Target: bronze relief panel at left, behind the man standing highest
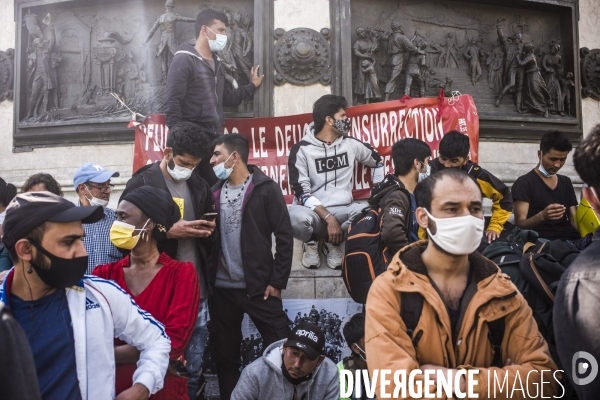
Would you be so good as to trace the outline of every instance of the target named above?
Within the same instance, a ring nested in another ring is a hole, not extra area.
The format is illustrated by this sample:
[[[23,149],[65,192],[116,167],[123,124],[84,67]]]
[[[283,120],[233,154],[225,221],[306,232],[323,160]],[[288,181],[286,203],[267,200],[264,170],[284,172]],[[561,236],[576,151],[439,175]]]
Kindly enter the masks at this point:
[[[249,82],[254,63],[253,1],[79,4],[83,3],[23,8],[18,57],[27,76],[16,88],[19,128],[130,117],[131,112],[111,94],[140,114],[162,112],[173,54],[182,43],[195,43],[196,16],[207,8],[229,17],[228,45],[219,54],[228,88]],[[253,101],[226,111],[251,115]]]

